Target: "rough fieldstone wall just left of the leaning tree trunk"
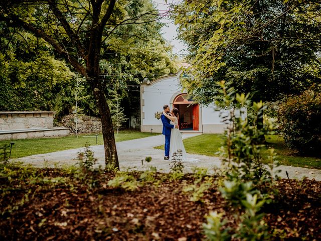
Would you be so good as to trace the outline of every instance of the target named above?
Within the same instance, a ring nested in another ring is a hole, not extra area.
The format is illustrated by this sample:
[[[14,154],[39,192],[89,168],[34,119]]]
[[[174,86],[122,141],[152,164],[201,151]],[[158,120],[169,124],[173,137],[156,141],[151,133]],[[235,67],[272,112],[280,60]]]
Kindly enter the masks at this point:
[[[75,115],[70,114],[62,118],[60,125],[70,128],[71,133],[76,133]],[[102,132],[101,121],[99,117],[78,115],[77,124],[78,133],[100,133]]]

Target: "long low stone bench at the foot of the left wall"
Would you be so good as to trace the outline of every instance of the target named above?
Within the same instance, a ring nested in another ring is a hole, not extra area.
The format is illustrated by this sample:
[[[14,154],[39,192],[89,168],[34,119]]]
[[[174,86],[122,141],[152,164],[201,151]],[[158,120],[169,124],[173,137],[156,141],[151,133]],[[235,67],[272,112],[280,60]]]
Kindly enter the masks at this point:
[[[2,130],[0,131],[0,140],[66,137],[69,135],[69,133],[70,129],[65,127]]]

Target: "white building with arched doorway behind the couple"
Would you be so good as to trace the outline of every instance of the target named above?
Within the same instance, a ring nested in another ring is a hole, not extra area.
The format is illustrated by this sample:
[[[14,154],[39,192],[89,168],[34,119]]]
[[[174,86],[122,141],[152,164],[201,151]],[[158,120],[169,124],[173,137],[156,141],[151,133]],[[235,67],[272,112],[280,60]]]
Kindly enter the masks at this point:
[[[188,99],[182,92],[179,74],[173,74],[140,85],[141,132],[162,133],[161,119],[154,114],[163,111],[163,106],[179,109],[179,126],[182,132],[223,133],[220,111],[214,105],[202,106]],[[152,129],[152,130],[151,130]]]

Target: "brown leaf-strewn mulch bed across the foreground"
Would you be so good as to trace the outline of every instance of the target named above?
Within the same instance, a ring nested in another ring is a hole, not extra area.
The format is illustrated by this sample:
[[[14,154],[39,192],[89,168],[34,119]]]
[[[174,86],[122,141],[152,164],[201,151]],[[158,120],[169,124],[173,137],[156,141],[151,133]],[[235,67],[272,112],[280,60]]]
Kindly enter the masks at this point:
[[[204,216],[211,210],[226,212],[227,225],[237,226],[235,212],[240,210],[215,187],[203,202],[189,200],[182,188],[193,183],[192,175],[170,181],[167,174],[157,174],[161,184],[130,192],[107,185],[113,174],[101,175],[100,186],[89,189],[57,169],[39,173],[70,182],[38,185],[0,179],[1,240],[200,240]],[[276,202],[263,210],[264,220],[277,232],[275,239],[321,240],[321,182],[282,179],[277,188]]]

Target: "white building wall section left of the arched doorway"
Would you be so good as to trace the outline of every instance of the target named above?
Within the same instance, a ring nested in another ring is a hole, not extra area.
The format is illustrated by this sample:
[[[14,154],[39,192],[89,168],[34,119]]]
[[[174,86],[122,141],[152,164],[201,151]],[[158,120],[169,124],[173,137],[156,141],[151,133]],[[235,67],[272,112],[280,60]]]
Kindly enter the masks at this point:
[[[141,125],[162,125],[162,121],[156,119],[154,113],[163,111],[165,104],[170,105],[172,96],[182,91],[179,86],[178,76],[162,78],[161,81],[144,85],[143,88],[142,99],[144,100],[144,105],[142,106],[142,112],[144,112],[144,118],[141,120]]]

